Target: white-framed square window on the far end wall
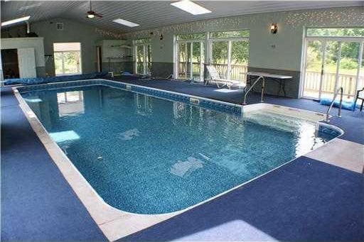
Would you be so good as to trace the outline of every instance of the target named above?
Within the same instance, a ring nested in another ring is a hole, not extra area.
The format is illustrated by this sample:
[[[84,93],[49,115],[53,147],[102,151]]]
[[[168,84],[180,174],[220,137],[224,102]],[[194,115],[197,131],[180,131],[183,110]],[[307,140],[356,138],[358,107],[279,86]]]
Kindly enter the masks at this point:
[[[81,43],[54,43],[55,75],[81,74]]]

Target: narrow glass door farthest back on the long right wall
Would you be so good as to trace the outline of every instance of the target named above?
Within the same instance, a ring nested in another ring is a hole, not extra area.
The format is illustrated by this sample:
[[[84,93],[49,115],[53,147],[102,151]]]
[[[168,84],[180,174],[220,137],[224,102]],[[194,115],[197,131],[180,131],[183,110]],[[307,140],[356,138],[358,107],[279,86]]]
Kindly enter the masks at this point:
[[[147,75],[151,73],[151,40],[134,40],[134,72]]]

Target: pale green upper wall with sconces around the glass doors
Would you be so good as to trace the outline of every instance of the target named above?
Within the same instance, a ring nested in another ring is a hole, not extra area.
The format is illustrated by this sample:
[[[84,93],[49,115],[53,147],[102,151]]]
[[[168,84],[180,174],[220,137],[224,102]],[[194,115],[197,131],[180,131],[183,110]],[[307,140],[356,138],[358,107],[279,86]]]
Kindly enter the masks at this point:
[[[271,23],[278,24],[278,33],[275,35],[269,31]],[[250,29],[250,67],[300,71],[304,28],[325,26],[363,27],[364,6],[215,18],[127,33],[124,37],[151,38],[152,60],[173,62],[173,35]],[[150,35],[150,32],[154,35]],[[160,34],[164,35],[163,40],[159,40]]]

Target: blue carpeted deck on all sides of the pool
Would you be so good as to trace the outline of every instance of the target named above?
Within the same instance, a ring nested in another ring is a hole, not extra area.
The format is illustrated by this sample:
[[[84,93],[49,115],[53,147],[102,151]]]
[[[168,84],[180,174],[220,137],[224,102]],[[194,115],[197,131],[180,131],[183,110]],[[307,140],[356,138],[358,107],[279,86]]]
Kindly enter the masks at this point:
[[[241,90],[157,80],[132,84],[241,103]],[[252,94],[248,103],[256,103]],[[305,99],[272,104],[325,112]],[[332,114],[336,114],[336,109]],[[346,133],[249,184],[123,241],[364,241],[364,112],[331,123]],[[354,150],[354,151],[353,151]],[[318,151],[318,150],[316,150]],[[355,153],[356,152],[356,153]],[[1,89],[1,241],[105,241],[29,125],[9,87]],[[123,228],[120,228],[122,230]]]

